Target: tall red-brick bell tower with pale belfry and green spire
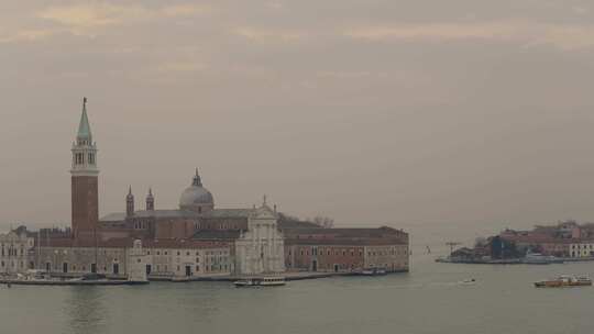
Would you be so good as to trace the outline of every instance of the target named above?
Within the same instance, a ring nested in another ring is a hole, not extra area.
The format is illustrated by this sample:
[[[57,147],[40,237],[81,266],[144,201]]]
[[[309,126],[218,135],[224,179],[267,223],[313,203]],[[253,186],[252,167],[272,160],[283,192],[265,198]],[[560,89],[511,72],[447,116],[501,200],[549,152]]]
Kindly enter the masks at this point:
[[[82,115],[76,142],[73,143],[72,204],[73,237],[95,240],[99,221],[97,144],[87,116],[87,98],[82,99]]]

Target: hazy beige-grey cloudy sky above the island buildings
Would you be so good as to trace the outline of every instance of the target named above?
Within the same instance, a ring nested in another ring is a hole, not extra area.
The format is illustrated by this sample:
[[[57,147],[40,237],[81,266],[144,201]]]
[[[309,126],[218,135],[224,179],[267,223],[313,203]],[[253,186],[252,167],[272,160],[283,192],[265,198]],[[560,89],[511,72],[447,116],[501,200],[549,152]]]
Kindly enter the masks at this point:
[[[0,224],[69,224],[84,96],[101,214],[594,221],[593,81],[592,1],[1,1]]]

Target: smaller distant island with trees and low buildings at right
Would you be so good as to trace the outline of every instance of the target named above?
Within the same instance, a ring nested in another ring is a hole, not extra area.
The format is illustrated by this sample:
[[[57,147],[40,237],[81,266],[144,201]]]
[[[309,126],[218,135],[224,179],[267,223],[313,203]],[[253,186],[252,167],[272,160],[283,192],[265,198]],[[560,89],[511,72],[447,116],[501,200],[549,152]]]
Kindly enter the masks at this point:
[[[479,238],[471,247],[452,249],[444,263],[466,264],[550,264],[594,260],[594,223],[575,221],[537,225],[530,231],[506,229]]]

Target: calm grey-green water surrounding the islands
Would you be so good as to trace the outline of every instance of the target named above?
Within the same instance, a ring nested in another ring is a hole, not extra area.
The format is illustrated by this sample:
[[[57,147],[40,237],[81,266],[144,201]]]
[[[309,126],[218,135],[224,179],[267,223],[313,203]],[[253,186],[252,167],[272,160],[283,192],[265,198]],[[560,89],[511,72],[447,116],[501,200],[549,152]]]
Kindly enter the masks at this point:
[[[436,254],[422,255],[424,248],[416,245],[410,274],[295,281],[284,288],[235,289],[226,282],[0,287],[0,333],[592,331],[594,288],[536,289],[531,282],[564,272],[594,276],[594,263],[436,264]],[[458,283],[470,277],[479,282]]]

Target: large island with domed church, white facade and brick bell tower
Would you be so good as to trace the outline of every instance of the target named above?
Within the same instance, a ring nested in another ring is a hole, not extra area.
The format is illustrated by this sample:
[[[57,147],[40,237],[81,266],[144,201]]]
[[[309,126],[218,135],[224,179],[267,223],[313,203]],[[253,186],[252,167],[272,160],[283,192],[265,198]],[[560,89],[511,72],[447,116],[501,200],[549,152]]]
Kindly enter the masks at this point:
[[[85,99],[72,146],[70,226],[19,226],[0,234],[0,275],[41,270],[56,277],[201,280],[409,269],[408,234],[402,230],[320,226],[277,212],[265,197],[258,207],[220,209],[198,170],[178,208],[157,209],[148,189],[139,210],[130,188],[125,211],[100,218],[97,151]]]

